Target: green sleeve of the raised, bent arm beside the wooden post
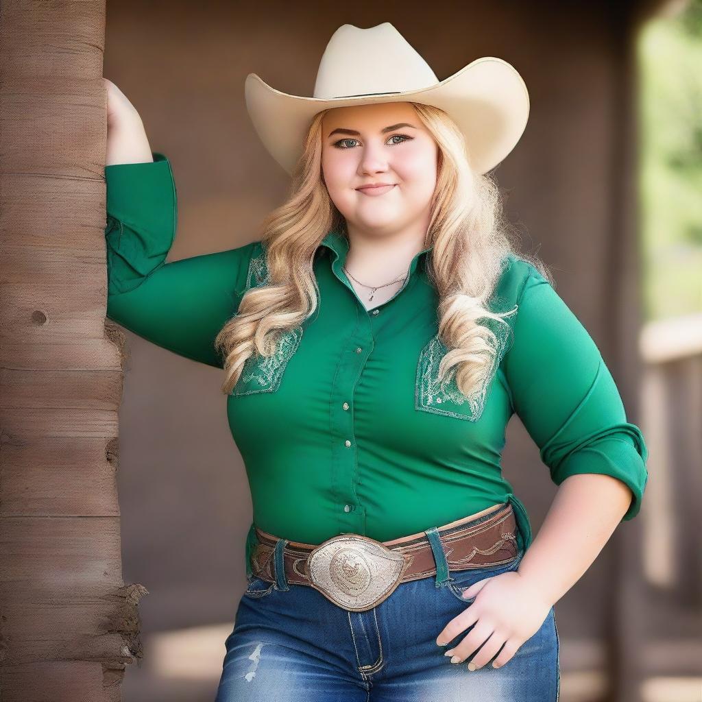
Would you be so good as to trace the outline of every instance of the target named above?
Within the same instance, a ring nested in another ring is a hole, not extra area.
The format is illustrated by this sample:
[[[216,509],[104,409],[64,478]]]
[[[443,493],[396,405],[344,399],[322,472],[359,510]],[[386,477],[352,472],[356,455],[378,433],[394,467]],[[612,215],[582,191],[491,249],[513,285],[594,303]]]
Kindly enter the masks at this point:
[[[166,263],[178,199],[171,164],[105,166],[107,317],[161,347],[218,368],[214,338],[237,312],[253,244]]]

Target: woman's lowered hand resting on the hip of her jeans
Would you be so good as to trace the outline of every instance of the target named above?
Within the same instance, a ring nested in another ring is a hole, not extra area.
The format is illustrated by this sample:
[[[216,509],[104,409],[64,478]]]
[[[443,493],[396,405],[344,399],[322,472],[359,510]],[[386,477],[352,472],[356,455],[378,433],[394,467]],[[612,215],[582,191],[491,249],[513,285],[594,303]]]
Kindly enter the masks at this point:
[[[505,665],[517,649],[541,628],[552,607],[552,603],[543,600],[519,571],[483,578],[466,588],[463,597],[475,597],[475,601],[446,624],[437,637],[437,644],[445,646],[475,624],[458,646],[446,651],[446,656],[458,656],[457,660],[452,659],[453,662],[463,663],[465,658],[480,648],[468,664],[470,670],[482,668],[503,644],[504,648],[492,665],[494,668]]]

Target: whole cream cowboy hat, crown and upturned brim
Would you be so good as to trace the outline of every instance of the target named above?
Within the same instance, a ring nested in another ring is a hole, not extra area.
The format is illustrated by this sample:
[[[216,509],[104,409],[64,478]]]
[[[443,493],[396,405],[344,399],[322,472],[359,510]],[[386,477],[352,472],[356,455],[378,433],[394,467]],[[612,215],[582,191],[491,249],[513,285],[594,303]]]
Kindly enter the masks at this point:
[[[444,110],[465,137],[468,158],[486,173],[515,147],[527,126],[529,93],[514,67],[485,56],[439,81],[390,22],[342,25],[319,62],[314,96],[288,95],[258,75],[246,77],[246,109],[272,157],[290,174],[312,117],[331,107],[422,102]]]

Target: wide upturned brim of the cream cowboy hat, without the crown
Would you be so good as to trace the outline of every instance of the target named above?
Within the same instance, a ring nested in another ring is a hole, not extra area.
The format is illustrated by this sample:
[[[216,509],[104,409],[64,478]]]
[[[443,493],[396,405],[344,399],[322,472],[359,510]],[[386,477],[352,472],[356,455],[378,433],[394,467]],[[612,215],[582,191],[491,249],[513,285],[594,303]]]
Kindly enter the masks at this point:
[[[444,110],[464,135],[470,165],[478,173],[497,166],[514,149],[527,127],[529,93],[507,61],[485,56],[429,88],[353,98],[306,98],[289,95],[250,73],[244,85],[246,110],[261,142],[291,174],[303,139],[317,112],[378,102],[421,102]]]

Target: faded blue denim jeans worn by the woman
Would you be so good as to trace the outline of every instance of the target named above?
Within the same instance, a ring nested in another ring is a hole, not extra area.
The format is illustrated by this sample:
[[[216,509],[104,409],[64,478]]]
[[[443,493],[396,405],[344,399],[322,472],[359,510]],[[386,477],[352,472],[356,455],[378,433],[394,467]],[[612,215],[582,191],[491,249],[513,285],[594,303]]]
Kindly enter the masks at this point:
[[[430,541],[435,561],[443,560],[437,575],[400,583],[362,612],[338,607],[308,585],[289,584],[284,574],[277,573],[275,583],[249,576],[225,640],[216,702],[557,701],[553,608],[501,668],[491,665],[497,656],[473,671],[468,663],[475,654],[462,663],[444,656],[472,627],[446,646],[436,643],[444,626],[470,607],[461,592],[482,578],[516,571],[524,548],[508,564],[447,574],[435,534]]]

